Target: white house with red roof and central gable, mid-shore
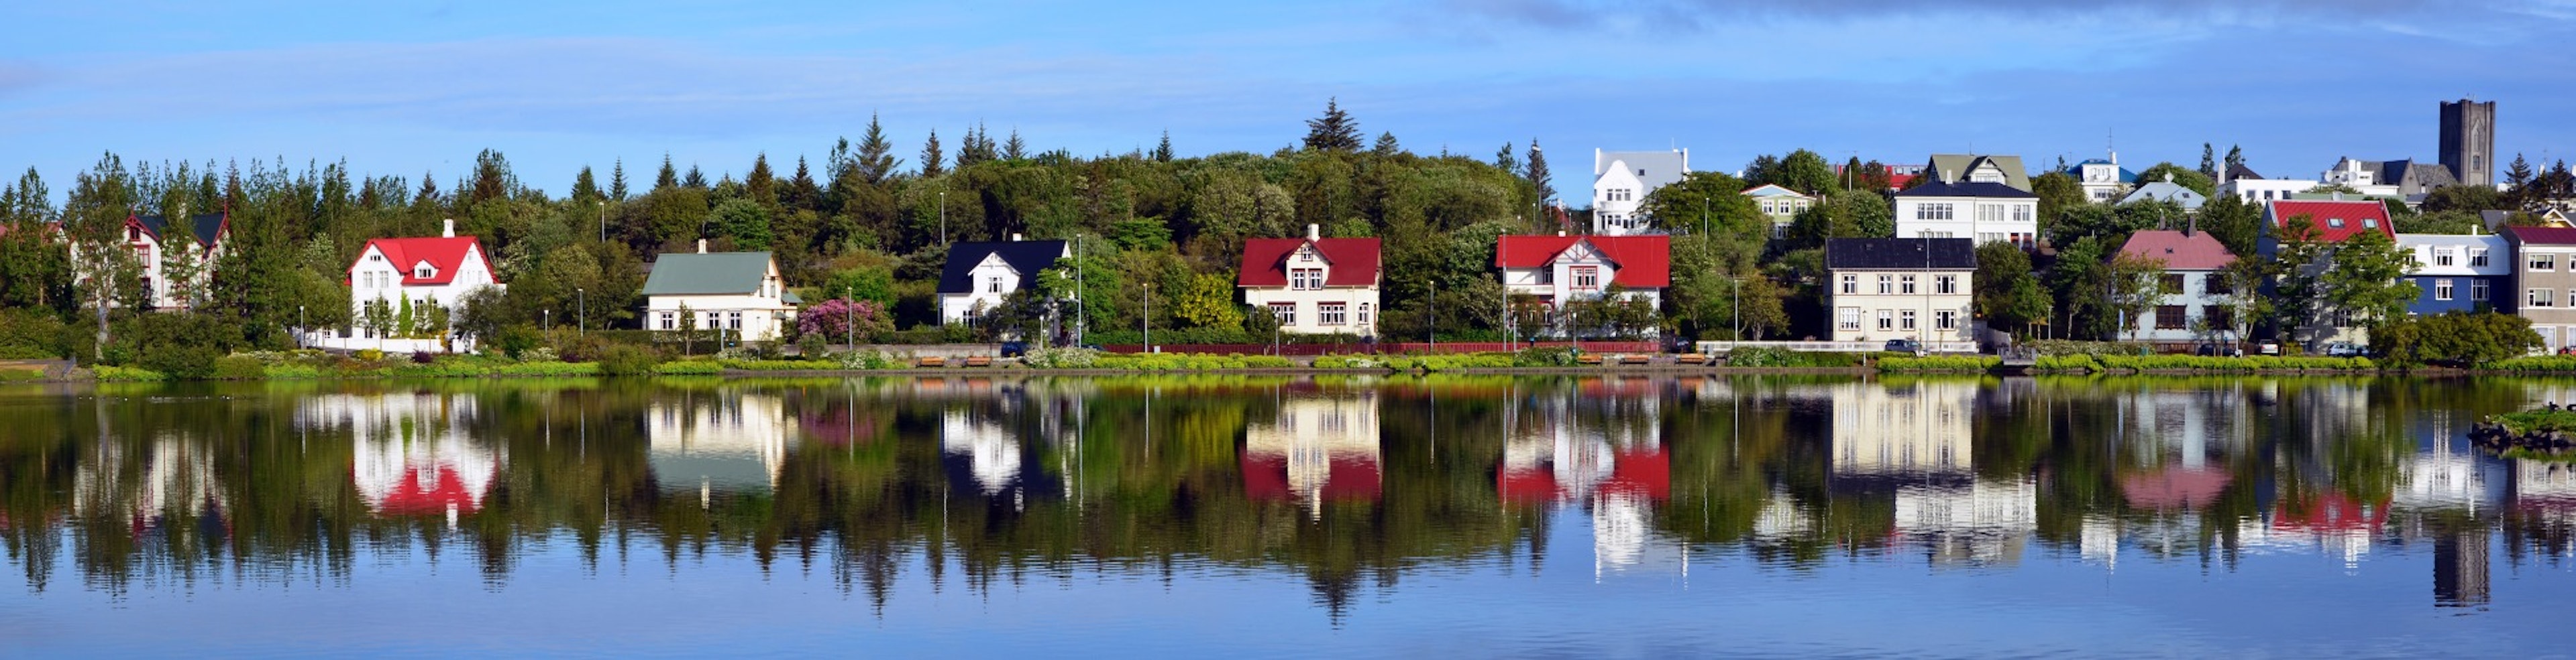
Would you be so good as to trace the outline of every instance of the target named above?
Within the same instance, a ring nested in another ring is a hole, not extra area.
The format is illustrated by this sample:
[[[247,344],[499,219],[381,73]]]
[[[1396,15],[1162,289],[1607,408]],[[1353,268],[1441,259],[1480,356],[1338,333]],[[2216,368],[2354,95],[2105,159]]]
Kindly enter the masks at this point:
[[[1247,239],[1234,285],[1244,303],[1270,311],[1285,334],[1378,334],[1378,288],[1386,270],[1378,239]]]

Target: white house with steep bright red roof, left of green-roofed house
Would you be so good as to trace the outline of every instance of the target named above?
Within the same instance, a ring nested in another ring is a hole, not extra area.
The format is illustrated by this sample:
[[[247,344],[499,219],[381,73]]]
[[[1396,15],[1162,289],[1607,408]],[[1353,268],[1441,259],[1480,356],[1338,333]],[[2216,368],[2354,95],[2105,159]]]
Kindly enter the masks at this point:
[[[456,221],[446,221],[438,236],[422,239],[374,239],[358,249],[358,259],[348,265],[348,303],[350,318],[366,318],[368,306],[381,306],[386,313],[399,313],[412,308],[425,313],[430,306],[448,308],[456,306],[479,288],[500,288],[492,275],[492,259],[484,254],[482,241],[474,236],[456,236]],[[394,331],[402,336],[404,331]],[[348,347],[379,347],[386,336],[376,336],[366,321],[358,321],[353,336],[361,342],[325,342]],[[392,352],[417,352],[433,349],[435,339],[412,339],[410,344],[381,349]]]

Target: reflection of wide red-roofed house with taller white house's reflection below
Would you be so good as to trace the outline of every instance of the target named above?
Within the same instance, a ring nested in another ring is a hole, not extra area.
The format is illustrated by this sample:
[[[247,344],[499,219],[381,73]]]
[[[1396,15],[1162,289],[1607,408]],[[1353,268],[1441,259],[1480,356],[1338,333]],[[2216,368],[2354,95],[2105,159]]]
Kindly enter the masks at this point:
[[[1685,550],[1654,532],[1672,498],[1662,393],[1646,378],[1530,385],[1504,426],[1494,488],[1517,503],[1582,503],[1592,519],[1592,573],[1682,573]]]

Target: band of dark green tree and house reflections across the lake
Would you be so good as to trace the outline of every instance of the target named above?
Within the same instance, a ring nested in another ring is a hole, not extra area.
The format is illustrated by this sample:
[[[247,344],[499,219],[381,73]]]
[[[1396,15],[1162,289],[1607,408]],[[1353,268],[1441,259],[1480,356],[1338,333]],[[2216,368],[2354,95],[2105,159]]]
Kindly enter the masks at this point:
[[[1419,570],[1595,578],[1832,557],[2362,562],[2429,544],[2434,601],[2558,565],[2576,475],[2476,455],[2553,380],[853,378],[95,385],[0,393],[0,537],[129,593],[343,586],[464,547],[670,570],[752,560],[878,609],[1190,565],[1301,575],[1340,616]],[[1577,550],[1582,552],[1582,550]]]

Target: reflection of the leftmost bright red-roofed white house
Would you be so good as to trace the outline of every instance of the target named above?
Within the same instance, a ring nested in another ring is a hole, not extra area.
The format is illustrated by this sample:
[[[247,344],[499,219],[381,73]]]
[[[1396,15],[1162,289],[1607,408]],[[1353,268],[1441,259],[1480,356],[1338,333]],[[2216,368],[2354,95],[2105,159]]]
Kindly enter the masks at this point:
[[[474,395],[317,395],[296,416],[304,431],[350,434],[350,480],[376,516],[446,516],[456,526],[482,511],[505,460],[466,437]]]

